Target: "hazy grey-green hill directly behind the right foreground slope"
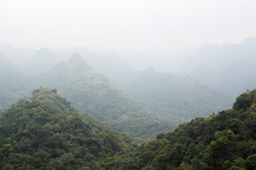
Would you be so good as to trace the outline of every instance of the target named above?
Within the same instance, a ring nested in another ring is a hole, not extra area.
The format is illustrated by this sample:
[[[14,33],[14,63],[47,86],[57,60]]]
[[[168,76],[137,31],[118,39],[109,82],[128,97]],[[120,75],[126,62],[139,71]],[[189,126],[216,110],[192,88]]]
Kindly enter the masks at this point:
[[[154,67],[145,69],[125,91],[149,113],[175,123],[230,108],[234,101],[232,96],[199,84],[191,77],[181,79],[156,72]]]

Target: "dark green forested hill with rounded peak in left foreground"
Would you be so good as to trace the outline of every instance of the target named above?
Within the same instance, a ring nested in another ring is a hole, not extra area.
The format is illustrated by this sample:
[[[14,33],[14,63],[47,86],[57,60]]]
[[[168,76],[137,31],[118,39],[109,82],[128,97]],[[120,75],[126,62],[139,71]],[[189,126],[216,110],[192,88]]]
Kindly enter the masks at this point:
[[[0,146],[0,169],[108,169],[136,145],[41,88],[1,113]]]

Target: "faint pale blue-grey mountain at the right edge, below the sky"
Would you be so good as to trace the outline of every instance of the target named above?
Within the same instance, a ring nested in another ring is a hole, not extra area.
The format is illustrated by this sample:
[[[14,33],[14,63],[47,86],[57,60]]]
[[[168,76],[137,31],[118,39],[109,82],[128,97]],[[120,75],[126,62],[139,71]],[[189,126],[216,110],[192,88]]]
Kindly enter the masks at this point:
[[[189,57],[179,69],[180,75],[191,75],[203,84],[230,94],[255,89],[256,38],[240,44],[204,45],[198,55]]]

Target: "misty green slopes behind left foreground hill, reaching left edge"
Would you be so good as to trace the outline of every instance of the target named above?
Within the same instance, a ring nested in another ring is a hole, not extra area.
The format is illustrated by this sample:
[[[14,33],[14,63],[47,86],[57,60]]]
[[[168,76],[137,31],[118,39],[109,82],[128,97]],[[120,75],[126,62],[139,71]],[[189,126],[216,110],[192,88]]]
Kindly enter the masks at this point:
[[[95,72],[78,54],[37,77],[24,76],[17,69],[10,69],[11,65],[1,64],[0,57],[0,111],[28,96],[31,89],[45,86],[53,89],[53,93],[58,89],[75,108],[112,130],[149,138],[176,126],[169,120],[146,113],[142,106],[110,84],[103,74]]]

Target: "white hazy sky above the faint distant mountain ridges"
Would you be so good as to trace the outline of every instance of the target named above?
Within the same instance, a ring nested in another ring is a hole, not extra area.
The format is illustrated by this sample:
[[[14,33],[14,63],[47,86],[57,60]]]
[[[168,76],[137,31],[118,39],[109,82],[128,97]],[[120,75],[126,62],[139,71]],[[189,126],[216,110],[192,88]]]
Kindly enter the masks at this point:
[[[255,0],[0,0],[0,44],[168,54],[256,35]]]

